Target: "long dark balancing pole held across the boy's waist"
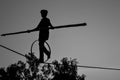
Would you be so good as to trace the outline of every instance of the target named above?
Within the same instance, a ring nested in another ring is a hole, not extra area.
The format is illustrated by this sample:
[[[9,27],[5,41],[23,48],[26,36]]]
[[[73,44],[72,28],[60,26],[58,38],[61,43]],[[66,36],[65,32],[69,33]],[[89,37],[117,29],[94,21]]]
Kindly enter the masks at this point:
[[[70,25],[55,26],[54,29],[80,27],[80,26],[86,26],[86,25],[87,25],[86,23],[70,24]],[[53,29],[53,28],[49,28],[49,29]],[[6,34],[2,34],[1,36],[15,35],[15,34],[21,34],[21,33],[30,33],[34,31],[39,31],[39,30],[26,30],[26,31],[20,31],[20,32],[6,33]]]

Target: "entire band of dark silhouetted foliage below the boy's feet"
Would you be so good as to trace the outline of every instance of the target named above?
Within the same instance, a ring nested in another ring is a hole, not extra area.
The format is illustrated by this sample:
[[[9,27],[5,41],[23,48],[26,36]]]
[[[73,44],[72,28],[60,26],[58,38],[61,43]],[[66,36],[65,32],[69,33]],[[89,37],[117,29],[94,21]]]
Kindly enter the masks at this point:
[[[0,80],[84,80],[78,75],[76,59],[63,58],[60,62],[39,63],[33,54],[26,55],[26,62],[18,61],[7,68],[0,68]]]

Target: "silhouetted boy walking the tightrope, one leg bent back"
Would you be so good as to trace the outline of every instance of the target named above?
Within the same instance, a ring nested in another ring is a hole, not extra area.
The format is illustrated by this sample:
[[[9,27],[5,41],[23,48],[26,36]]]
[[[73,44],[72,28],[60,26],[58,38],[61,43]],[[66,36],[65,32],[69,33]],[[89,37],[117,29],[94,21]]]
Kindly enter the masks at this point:
[[[53,26],[47,18],[48,11],[47,10],[41,10],[41,21],[38,24],[38,26],[34,30],[39,30],[39,51],[40,51],[40,59],[39,62],[43,63],[44,62],[44,53],[47,55],[47,59],[50,58],[50,52],[45,48],[44,43],[46,40],[49,38],[49,28],[53,29]]]

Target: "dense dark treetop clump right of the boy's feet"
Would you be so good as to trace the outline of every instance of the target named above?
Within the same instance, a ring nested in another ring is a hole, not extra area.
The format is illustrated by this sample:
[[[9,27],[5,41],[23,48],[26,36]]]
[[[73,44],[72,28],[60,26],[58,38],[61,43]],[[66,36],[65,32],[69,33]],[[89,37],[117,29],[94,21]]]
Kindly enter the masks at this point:
[[[54,78],[52,80],[84,80],[85,75],[78,75],[76,59],[63,58],[61,63],[54,61]]]

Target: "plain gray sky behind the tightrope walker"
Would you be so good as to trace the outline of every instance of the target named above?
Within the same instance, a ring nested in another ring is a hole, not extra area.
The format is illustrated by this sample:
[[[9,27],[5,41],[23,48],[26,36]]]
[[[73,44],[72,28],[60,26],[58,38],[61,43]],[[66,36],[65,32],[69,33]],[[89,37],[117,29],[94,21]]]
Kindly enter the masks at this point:
[[[0,0],[0,34],[33,29],[40,10],[47,9],[53,26],[86,22],[86,27],[50,31],[52,60],[77,58],[80,65],[120,68],[119,0]],[[26,54],[38,32],[0,37],[0,44]],[[38,55],[38,45],[34,52]],[[0,66],[23,57],[0,48]],[[119,80],[120,71],[80,68],[86,80]]]

